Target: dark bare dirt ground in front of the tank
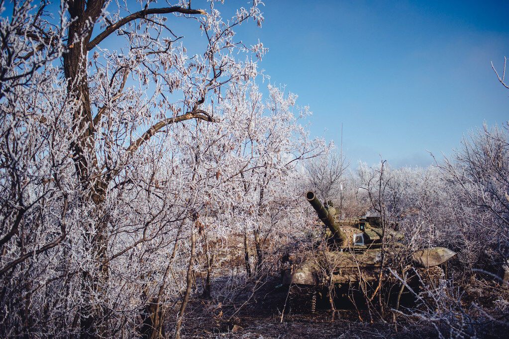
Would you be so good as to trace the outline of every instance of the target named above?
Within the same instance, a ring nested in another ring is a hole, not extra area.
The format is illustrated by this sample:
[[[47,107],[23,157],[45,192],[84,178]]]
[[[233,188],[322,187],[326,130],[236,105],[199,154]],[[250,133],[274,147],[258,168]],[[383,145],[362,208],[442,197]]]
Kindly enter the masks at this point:
[[[403,328],[401,324],[369,321],[361,311],[360,321],[355,310],[318,310],[307,314],[285,314],[274,311],[286,293],[270,291],[270,284],[253,298],[240,296],[236,305],[214,304],[209,300],[194,300],[188,306],[185,327],[186,338],[433,338],[434,329]],[[244,303],[248,300],[247,303]],[[242,302],[244,301],[244,302]],[[243,305],[240,307],[240,305]],[[236,311],[237,310],[237,311]],[[366,321],[367,319],[367,321]]]

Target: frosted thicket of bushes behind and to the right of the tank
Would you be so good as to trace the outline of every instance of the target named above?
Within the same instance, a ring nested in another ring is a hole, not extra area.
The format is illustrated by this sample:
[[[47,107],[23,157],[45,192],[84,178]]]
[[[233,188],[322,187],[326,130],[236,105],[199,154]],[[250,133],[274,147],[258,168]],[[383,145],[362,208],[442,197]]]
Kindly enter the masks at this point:
[[[428,168],[361,164],[346,176],[347,217],[379,215],[405,234],[407,253],[458,253],[425,307],[399,311],[441,337],[501,335],[509,327],[509,125],[475,130],[453,156]],[[339,201],[338,192],[332,201]],[[337,204],[335,204],[337,206]],[[336,207],[337,208],[337,207]],[[391,272],[403,281],[398,263]],[[422,294],[421,294],[422,296]]]

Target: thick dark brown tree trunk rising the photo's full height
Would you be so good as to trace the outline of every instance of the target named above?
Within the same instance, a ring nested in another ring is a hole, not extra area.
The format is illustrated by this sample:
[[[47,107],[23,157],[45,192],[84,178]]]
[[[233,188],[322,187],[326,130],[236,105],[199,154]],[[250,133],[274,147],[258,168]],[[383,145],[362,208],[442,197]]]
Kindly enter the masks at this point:
[[[89,78],[87,72],[87,52],[94,24],[101,14],[103,0],[75,0],[69,3],[71,18],[68,34],[68,50],[63,55],[64,74],[68,93],[76,99],[77,107],[73,113],[72,129],[76,136],[70,147],[76,174],[81,182],[83,206],[94,204],[94,221],[82,227],[86,231],[86,252],[94,258],[94,265],[81,274],[81,290],[84,304],[80,309],[80,336],[82,338],[103,336],[105,319],[101,298],[102,288],[108,279],[108,269],[104,265],[107,249],[107,218],[104,218],[103,203],[106,198],[107,179],[93,179],[97,172],[94,126],[90,100]],[[75,37],[78,37],[74,41]]]

